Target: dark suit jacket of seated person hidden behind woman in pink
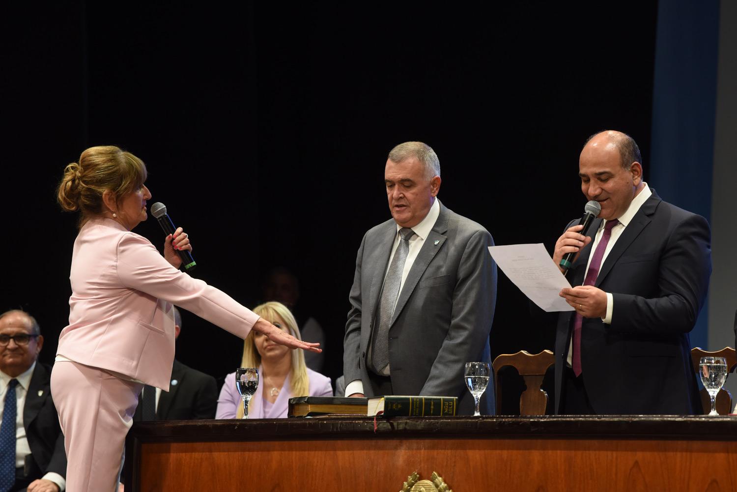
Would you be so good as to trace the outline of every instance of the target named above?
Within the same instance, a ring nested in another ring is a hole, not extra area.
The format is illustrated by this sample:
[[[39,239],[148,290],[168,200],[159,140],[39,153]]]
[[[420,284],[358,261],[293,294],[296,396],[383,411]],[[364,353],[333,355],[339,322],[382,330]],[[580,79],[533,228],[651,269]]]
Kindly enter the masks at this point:
[[[169,391],[158,397],[156,420],[212,419],[216,406],[215,378],[174,359]],[[136,408],[133,420],[141,420],[141,407]]]

